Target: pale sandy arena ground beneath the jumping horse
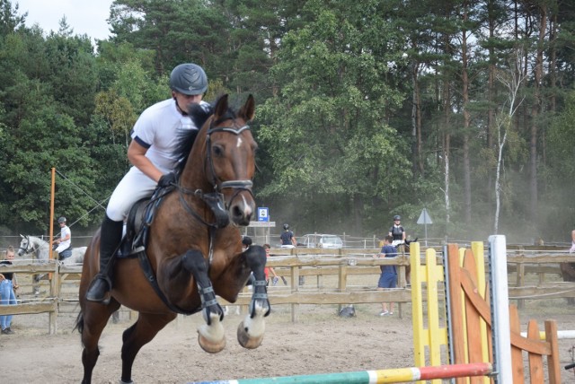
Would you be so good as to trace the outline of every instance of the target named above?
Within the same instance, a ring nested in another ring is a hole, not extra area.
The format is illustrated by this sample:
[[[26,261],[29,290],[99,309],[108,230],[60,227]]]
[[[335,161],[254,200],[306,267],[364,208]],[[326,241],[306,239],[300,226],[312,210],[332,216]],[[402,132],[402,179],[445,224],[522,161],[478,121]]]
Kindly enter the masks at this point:
[[[542,301],[532,301],[541,304]],[[529,304],[521,313],[537,319],[556,319],[560,330],[575,329],[575,308],[564,301],[547,301],[543,310]],[[559,313],[550,313],[559,308]],[[357,317],[340,318],[337,306],[300,306],[297,323],[291,322],[288,305],[274,307],[260,348],[245,350],[235,338],[241,316],[230,313],[225,321],[226,349],[203,352],[197,341],[199,314],[179,317],[164,328],[137,355],[132,380],[136,383],[185,383],[194,380],[226,380],[366,371],[413,366],[410,305],[405,317],[377,316],[377,304],[356,307]],[[529,313],[527,313],[529,312]],[[60,314],[57,334],[48,335],[48,314],[21,315],[13,319],[12,336],[0,335],[0,371],[6,383],[77,383],[82,380],[80,336],[73,332],[75,314]],[[111,321],[101,338],[102,354],[96,364],[94,383],[117,383],[120,378],[121,333],[128,327],[128,313]],[[562,366],[571,362],[575,340],[560,340]],[[562,371],[563,382],[575,382],[572,371]]]

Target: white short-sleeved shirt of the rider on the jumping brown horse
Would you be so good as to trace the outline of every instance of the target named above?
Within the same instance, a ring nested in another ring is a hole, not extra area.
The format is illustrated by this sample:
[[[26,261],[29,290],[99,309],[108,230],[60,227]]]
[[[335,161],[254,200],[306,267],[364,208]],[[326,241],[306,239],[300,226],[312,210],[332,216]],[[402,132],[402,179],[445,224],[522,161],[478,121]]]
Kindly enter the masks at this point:
[[[208,107],[206,101],[200,105]],[[164,171],[172,171],[176,161],[173,150],[178,143],[181,130],[198,129],[191,118],[182,116],[173,99],[155,103],[144,110],[132,129],[132,139],[147,149],[146,157]]]

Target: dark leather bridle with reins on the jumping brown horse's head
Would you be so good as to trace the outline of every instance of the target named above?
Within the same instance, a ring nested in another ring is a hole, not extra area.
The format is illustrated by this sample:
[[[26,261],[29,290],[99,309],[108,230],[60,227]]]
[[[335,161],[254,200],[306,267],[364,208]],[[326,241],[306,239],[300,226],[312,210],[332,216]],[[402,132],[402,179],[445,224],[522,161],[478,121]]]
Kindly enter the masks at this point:
[[[229,209],[230,205],[234,202],[236,196],[238,196],[242,191],[248,191],[250,195],[253,197],[252,192],[252,180],[226,180],[222,181],[217,177],[216,170],[214,169],[214,161],[212,159],[212,141],[211,135],[217,132],[226,132],[232,135],[241,135],[243,131],[249,130],[250,126],[244,125],[243,127],[236,127],[235,124],[233,127],[213,127],[213,121],[210,122],[208,133],[206,134],[206,163],[204,167],[207,167],[209,172],[210,183],[214,192],[205,193],[201,189],[190,190],[187,188],[183,188],[180,185],[180,181],[178,181],[178,191],[180,192],[180,201],[181,205],[184,206],[186,211],[194,216],[200,223],[212,227],[214,229],[224,228],[229,224],[229,215],[227,214],[227,210]],[[234,190],[234,194],[229,199],[228,204],[226,204],[224,194],[222,191],[224,189],[231,188]],[[206,203],[209,208],[214,213],[216,220],[215,223],[208,223],[206,222],[198,213],[196,213],[190,205],[186,202],[184,195],[191,195],[199,197],[204,203]]]

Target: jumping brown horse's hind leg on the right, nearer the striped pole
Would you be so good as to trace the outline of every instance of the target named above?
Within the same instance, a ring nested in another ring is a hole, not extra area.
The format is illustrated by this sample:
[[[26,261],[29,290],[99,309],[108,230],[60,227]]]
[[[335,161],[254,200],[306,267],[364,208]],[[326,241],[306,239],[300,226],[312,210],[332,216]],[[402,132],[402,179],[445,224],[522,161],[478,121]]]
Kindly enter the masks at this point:
[[[163,315],[139,314],[132,327],[124,331],[122,335],[122,383],[132,382],[132,365],[136,355],[142,346],[149,343],[157,333],[170,321],[176,318],[176,314],[169,312]]]

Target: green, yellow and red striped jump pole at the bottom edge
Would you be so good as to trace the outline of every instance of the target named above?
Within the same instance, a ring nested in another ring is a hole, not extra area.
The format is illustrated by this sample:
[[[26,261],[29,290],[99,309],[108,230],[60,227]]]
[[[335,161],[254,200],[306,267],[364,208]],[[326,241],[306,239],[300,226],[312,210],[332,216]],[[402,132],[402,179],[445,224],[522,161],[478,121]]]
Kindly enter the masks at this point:
[[[491,374],[489,362],[469,364],[438,365],[435,367],[398,368],[380,371],[357,371],[342,373],[323,373],[316,375],[278,376],[260,379],[193,381],[189,384],[383,384],[403,383],[415,380],[455,379]]]

